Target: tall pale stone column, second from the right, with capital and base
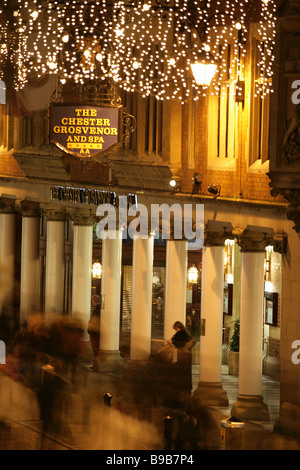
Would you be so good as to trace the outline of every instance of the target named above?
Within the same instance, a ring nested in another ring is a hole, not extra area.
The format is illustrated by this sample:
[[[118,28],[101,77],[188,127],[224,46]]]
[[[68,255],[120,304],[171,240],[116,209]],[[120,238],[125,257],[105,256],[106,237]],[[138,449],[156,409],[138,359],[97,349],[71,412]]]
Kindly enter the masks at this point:
[[[225,238],[206,232],[202,252],[200,373],[193,398],[207,406],[228,406],[221,380]]]

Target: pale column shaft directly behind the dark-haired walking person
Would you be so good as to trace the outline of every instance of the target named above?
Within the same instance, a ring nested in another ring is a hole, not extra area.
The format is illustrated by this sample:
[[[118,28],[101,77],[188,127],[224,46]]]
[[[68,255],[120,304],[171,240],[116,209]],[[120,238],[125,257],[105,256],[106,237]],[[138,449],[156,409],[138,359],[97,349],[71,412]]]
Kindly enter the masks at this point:
[[[175,334],[176,321],[186,323],[188,242],[167,240],[164,338]]]

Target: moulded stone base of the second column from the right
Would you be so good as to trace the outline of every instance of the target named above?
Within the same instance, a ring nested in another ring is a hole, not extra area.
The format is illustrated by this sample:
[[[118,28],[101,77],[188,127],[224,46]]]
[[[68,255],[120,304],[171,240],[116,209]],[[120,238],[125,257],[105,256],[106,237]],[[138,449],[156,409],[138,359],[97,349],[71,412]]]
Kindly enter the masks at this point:
[[[221,382],[199,382],[193,393],[193,401],[204,406],[228,406],[227,393]]]

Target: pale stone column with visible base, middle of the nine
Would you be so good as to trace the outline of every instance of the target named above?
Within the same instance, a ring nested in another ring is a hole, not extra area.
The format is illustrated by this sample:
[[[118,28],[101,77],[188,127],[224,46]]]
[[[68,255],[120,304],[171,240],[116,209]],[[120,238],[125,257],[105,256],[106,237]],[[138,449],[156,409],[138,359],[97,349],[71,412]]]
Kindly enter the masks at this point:
[[[102,241],[101,318],[99,370],[117,372],[123,368],[120,355],[120,306],[122,231],[110,233]]]

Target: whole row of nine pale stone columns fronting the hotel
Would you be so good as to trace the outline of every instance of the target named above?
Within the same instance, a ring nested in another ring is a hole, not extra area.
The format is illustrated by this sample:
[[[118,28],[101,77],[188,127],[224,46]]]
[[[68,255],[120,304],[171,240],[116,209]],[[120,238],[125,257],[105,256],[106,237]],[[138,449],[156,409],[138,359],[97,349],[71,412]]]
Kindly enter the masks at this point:
[[[13,279],[14,201],[0,198],[0,266],[6,263]],[[45,316],[63,312],[64,220],[73,220],[72,315],[84,324],[90,317],[91,266],[94,217],[89,210],[43,208],[47,216]],[[39,219],[38,205],[23,201],[20,320],[38,310]],[[233,237],[233,235],[232,235]],[[227,406],[222,387],[222,326],[224,242],[228,233],[206,234],[202,253],[202,299],[199,384],[194,391],[201,404]],[[239,395],[233,406],[243,419],[267,420],[262,392],[262,341],[264,298],[264,250],[270,244],[265,233],[244,231],[236,237],[242,252]],[[254,241],[253,241],[254,240]],[[133,240],[132,360],[147,360],[151,353],[151,305],[153,238]],[[187,287],[187,242],[167,240],[164,337],[174,334],[175,321],[185,322]],[[122,367],[119,353],[122,233],[102,241],[102,290],[100,370]]]

